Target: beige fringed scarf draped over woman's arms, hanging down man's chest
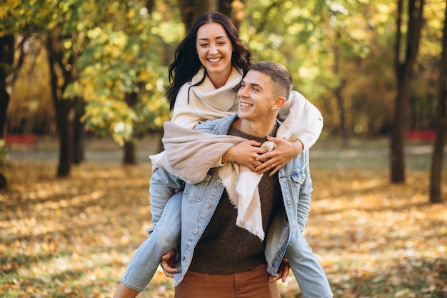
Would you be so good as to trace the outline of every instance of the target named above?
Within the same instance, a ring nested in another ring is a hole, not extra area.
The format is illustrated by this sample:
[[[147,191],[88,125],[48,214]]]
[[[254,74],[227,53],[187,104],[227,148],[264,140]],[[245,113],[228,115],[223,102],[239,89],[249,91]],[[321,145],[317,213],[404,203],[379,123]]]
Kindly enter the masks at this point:
[[[292,91],[287,105],[288,116],[279,126],[276,137],[294,141],[310,128],[309,114],[312,106],[296,91]],[[238,136],[207,134],[165,122],[163,141],[169,154],[161,152],[151,155],[152,169],[154,171],[157,167],[161,167],[189,184],[196,184],[205,179],[211,167],[219,164],[222,155],[231,146],[245,140]],[[218,174],[226,187],[231,203],[238,209],[236,219],[238,227],[247,229],[263,240],[261,202],[258,193],[258,183],[262,174],[251,172],[247,167],[233,162],[219,167]]]

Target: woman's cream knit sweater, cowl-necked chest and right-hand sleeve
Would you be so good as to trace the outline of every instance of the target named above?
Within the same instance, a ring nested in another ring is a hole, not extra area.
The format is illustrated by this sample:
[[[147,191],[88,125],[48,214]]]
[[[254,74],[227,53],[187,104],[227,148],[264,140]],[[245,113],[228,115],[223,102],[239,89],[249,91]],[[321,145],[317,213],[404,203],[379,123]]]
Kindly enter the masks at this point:
[[[194,129],[199,121],[230,116],[238,111],[237,92],[234,88],[242,79],[240,69],[233,67],[225,86],[219,89],[216,89],[208,76],[199,86],[191,87],[203,77],[204,68],[199,69],[193,79],[181,87],[176,97],[172,123]],[[291,109],[295,110],[292,113],[293,118],[287,117]],[[288,141],[299,139],[304,148],[315,144],[323,129],[323,116],[320,111],[297,91],[291,92],[279,116],[285,120],[278,130],[278,137]]]

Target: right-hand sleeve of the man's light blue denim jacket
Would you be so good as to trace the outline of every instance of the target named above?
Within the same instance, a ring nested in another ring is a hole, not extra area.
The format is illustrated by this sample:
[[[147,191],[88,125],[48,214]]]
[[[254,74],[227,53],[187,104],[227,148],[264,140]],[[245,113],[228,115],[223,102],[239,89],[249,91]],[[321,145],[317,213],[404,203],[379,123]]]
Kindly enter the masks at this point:
[[[311,193],[313,191],[308,150],[304,151],[302,154],[306,154],[306,167],[303,169],[305,178],[300,187],[298,204],[296,207],[296,222],[301,232],[303,232],[304,227],[306,227],[309,212],[311,210]]]

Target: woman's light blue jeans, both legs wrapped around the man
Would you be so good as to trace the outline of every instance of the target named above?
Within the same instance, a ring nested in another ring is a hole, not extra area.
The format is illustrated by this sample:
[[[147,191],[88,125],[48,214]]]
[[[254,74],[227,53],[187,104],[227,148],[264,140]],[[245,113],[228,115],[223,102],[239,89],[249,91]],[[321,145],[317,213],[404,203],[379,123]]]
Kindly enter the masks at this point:
[[[154,277],[161,257],[179,246],[182,196],[183,192],[178,192],[168,200],[153,232],[136,250],[121,278],[121,282],[126,287],[139,292],[143,291]],[[332,297],[326,274],[313,255],[306,238],[298,229],[295,229],[295,233],[288,244],[285,257],[288,258],[303,296],[305,298]]]

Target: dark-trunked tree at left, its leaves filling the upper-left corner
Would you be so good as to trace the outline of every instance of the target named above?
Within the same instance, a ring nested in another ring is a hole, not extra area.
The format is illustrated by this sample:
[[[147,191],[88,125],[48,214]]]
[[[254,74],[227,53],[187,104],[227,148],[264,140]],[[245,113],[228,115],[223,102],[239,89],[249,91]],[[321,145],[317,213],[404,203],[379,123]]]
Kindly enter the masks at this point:
[[[90,11],[98,11],[100,7],[97,1],[8,1],[2,5],[0,15],[4,10],[8,18],[6,20],[6,32],[13,36],[21,36],[23,42],[33,34],[39,34],[46,40],[46,50],[49,58],[49,73],[51,94],[57,114],[57,128],[59,132],[59,167],[57,175],[64,177],[69,175],[72,152],[72,121],[74,101],[64,100],[63,93],[66,86],[76,77],[76,56],[82,49],[80,31],[89,25],[88,21],[79,24],[78,16],[89,20],[93,16]],[[90,3],[90,7],[85,6]],[[84,10],[83,10],[84,9]],[[92,18],[95,19],[95,18]],[[4,28],[2,19],[1,28]]]

